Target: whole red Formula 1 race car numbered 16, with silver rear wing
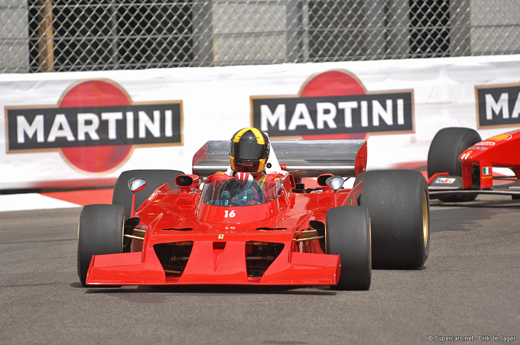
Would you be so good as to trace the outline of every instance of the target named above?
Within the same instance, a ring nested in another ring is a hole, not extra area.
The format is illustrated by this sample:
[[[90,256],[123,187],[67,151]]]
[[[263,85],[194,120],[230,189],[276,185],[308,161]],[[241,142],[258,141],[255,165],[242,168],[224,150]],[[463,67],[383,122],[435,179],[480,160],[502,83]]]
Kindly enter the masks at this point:
[[[191,175],[125,171],[112,205],[85,206],[77,247],[82,284],[362,290],[372,267],[426,261],[425,178],[411,170],[363,172],[365,140],[272,141],[266,172],[283,177],[262,188],[236,179],[201,188],[202,177],[229,166],[228,149],[229,141],[207,142]],[[318,177],[320,187],[305,188],[304,177]],[[342,187],[354,177],[353,188]]]

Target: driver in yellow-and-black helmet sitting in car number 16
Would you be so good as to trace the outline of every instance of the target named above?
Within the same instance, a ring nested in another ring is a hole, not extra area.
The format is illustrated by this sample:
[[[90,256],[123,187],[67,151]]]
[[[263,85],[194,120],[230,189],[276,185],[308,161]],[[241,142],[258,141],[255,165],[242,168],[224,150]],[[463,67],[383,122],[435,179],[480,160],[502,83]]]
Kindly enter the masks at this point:
[[[265,133],[254,127],[241,129],[229,142],[230,169],[227,172],[217,171],[207,178],[207,182],[236,179],[240,184],[248,184],[254,181],[262,190],[264,184],[278,181],[283,177],[283,174],[278,172],[266,174],[269,151],[269,138]],[[222,192],[224,191],[221,191],[221,195]],[[255,193],[258,194],[259,191],[256,190]],[[258,195],[258,198],[263,198],[264,202],[276,197],[277,195]]]

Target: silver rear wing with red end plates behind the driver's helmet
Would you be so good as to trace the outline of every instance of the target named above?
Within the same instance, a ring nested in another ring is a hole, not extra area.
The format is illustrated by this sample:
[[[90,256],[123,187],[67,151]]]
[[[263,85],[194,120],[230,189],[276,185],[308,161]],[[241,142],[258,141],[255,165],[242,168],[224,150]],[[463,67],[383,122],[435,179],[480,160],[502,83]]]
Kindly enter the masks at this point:
[[[274,154],[273,154],[274,152]],[[366,140],[271,140],[269,160],[294,177],[355,177],[367,166]],[[193,156],[193,174],[207,177],[229,167],[229,141],[206,142]]]

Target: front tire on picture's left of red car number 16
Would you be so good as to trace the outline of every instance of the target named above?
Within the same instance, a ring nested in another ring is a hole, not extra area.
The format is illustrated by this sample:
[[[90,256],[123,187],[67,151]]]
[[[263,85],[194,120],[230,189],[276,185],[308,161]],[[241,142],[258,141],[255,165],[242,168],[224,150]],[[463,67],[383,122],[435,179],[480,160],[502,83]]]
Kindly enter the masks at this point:
[[[77,275],[85,285],[93,255],[123,252],[125,211],[119,205],[86,205],[77,230]]]

